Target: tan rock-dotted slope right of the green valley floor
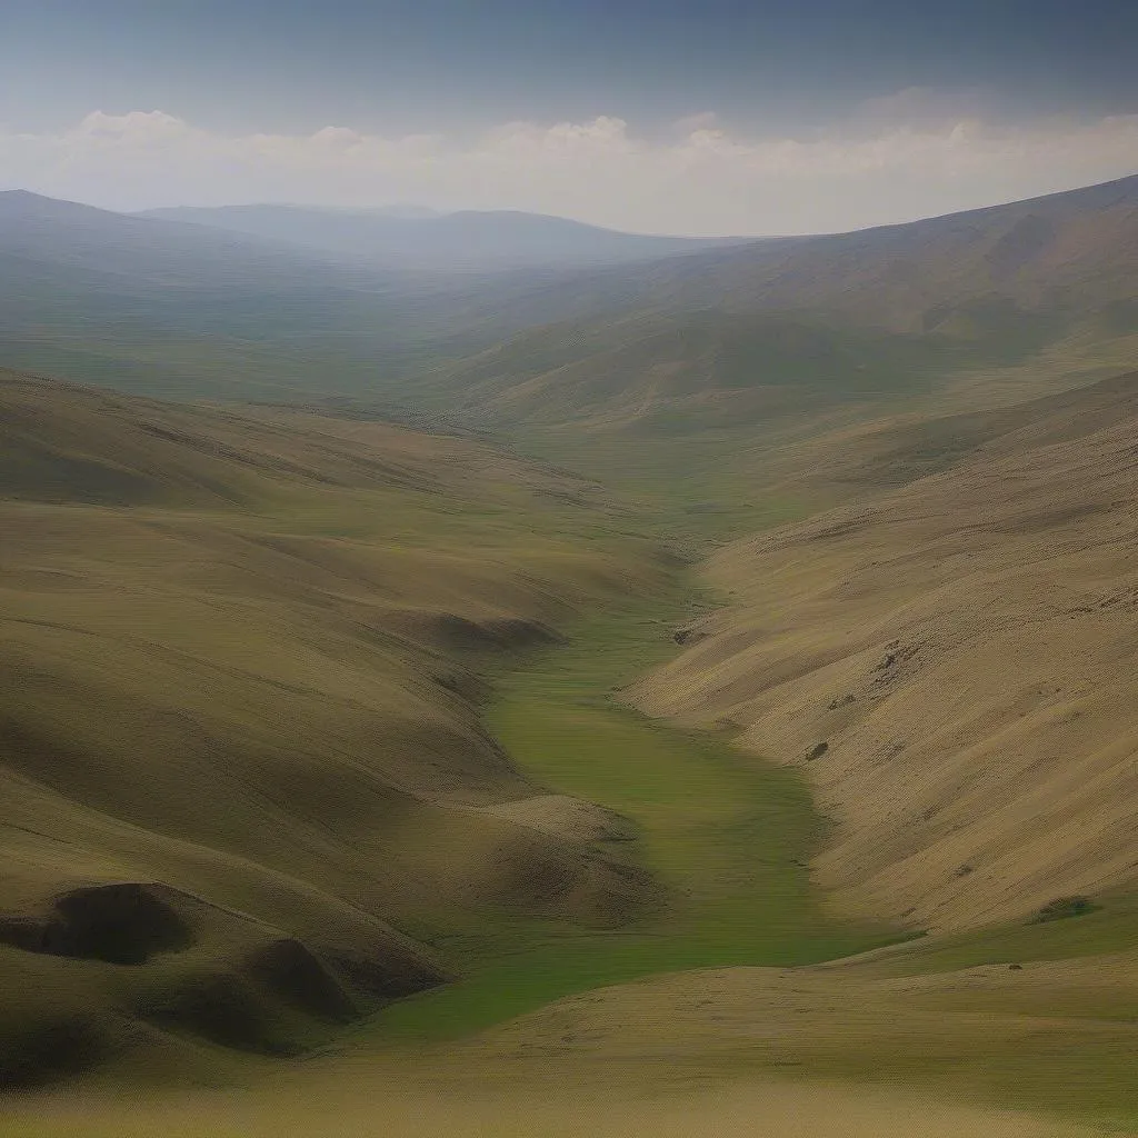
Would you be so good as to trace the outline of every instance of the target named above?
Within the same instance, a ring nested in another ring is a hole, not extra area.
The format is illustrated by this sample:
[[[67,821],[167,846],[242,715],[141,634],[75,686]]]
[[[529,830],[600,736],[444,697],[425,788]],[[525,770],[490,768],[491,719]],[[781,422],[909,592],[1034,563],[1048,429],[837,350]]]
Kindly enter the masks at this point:
[[[635,702],[802,764],[852,908],[955,927],[1132,885],[1136,424],[1130,374],[882,432],[844,476],[917,480],[716,554],[728,607]]]

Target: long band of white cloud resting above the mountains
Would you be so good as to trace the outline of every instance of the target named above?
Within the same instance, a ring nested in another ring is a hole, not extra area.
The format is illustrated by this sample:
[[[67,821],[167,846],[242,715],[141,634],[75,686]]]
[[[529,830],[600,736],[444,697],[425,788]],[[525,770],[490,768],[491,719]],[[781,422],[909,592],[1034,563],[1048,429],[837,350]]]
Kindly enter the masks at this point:
[[[287,200],[520,208],[642,231],[848,229],[1102,181],[1138,168],[1138,115],[999,124],[975,100],[904,91],[803,138],[710,113],[663,138],[616,116],[479,135],[224,134],[160,110],[0,129],[0,185],[110,208]]]

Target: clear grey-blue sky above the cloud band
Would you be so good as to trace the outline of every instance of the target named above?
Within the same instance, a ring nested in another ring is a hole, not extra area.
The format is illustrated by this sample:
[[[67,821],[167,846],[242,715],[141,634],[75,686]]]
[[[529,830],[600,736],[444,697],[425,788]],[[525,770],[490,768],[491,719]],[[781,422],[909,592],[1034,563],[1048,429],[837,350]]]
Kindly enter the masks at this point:
[[[715,109],[798,126],[908,86],[1138,110],[1127,0],[5,0],[0,118],[418,130]]]

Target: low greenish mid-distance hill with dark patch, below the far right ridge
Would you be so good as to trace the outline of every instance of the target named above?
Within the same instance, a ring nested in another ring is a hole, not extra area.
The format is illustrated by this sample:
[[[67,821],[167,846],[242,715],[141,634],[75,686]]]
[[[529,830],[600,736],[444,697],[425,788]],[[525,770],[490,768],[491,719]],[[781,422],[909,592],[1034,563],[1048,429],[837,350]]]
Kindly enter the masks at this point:
[[[970,361],[943,337],[708,310],[527,332],[464,361],[420,397],[522,432],[691,435],[819,404],[912,397]]]

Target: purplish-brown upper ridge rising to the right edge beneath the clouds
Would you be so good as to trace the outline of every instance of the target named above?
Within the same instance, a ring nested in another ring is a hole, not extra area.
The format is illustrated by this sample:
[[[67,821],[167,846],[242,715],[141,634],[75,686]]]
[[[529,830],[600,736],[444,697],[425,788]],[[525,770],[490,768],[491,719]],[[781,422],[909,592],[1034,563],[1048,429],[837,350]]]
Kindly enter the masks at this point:
[[[669,305],[811,310],[863,327],[1014,330],[1024,313],[1121,303],[1138,253],[1138,175],[1007,205],[673,262]],[[1011,325],[1011,327],[1008,327]]]

